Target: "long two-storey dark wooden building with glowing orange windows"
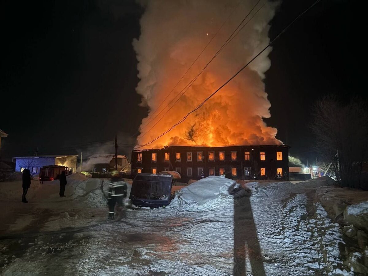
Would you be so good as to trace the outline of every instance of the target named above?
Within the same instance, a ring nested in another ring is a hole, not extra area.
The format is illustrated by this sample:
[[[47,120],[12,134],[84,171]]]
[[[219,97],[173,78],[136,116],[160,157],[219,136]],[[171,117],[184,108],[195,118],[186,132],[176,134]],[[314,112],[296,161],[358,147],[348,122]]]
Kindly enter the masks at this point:
[[[183,180],[225,174],[233,179],[289,176],[289,146],[167,146],[132,151],[132,173],[177,171]]]

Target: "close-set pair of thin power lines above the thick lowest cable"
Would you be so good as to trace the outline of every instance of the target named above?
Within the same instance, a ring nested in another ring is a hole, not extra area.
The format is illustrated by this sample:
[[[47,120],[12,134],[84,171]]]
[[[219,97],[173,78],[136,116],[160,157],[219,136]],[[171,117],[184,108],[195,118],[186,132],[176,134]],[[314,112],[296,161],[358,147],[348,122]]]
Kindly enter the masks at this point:
[[[180,95],[180,97],[174,102],[174,104],[166,111],[165,114],[163,114],[163,116],[161,118],[159,118],[159,120],[148,130],[146,131],[144,134],[140,135],[140,138],[142,138],[144,135],[146,135],[149,131],[152,130],[153,127],[155,127],[156,124],[158,124],[158,122],[171,110],[171,108],[173,108],[174,105],[176,105],[176,103],[181,99],[181,97],[185,94],[185,92],[188,91],[188,89],[191,87],[191,85],[197,80],[197,78],[199,77],[199,75],[202,74],[202,72],[208,67],[208,65],[212,62],[213,59],[215,59],[215,57],[230,43],[230,41],[240,32],[241,29],[243,29],[245,27],[245,25],[248,24],[248,22],[250,22],[252,20],[252,18],[259,12],[259,10],[261,10],[261,8],[264,6],[264,4],[258,9],[258,11],[256,11],[256,13],[250,18],[250,20],[248,20],[243,27],[234,35],[234,33],[237,31],[237,29],[241,26],[241,24],[243,24],[243,22],[247,19],[247,17],[252,13],[252,11],[255,9],[255,7],[258,5],[258,3],[261,0],[258,0],[257,3],[253,6],[253,8],[249,11],[249,13],[244,17],[244,19],[240,22],[240,24],[234,29],[233,33],[231,33],[231,35],[229,36],[229,38],[223,43],[223,45],[220,47],[220,49],[216,52],[216,54],[212,57],[212,59],[210,59],[210,61],[206,64],[206,66],[204,68],[202,68],[201,71],[198,72],[198,74],[183,88],[183,90],[181,90],[178,95],[176,95],[168,104],[167,106],[164,107],[164,109],[162,109],[160,111],[159,114],[157,114],[150,122],[148,122],[147,124],[145,124],[143,127],[141,127],[141,130],[143,128],[145,128],[149,123],[151,123],[157,116],[159,116],[165,109],[166,107],[168,107],[176,98],[177,96]],[[234,35],[234,36],[233,36]],[[185,90],[184,90],[185,89]],[[184,92],[183,92],[184,91]],[[183,93],[182,93],[183,92]]]

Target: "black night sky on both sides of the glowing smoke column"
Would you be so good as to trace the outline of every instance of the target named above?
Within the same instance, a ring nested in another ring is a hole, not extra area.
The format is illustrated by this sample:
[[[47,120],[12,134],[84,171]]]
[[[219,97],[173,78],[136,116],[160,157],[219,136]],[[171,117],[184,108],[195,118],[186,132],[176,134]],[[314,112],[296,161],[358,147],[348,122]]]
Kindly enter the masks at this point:
[[[283,1],[270,37],[312,2]],[[362,59],[354,56],[364,37],[357,4],[322,0],[273,45],[266,122],[304,162],[316,156],[308,129],[312,104],[328,93],[364,96]],[[134,144],[130,136],[147,112],[138,107],[131,44],[143,12],[131,0],[2,2],[0,129],[9,134],[3,158],[33,155],[36,147],[40,155],[111,151],[110,141],[92,142],[116,134],[119,152],[129,154],[124,144]]]

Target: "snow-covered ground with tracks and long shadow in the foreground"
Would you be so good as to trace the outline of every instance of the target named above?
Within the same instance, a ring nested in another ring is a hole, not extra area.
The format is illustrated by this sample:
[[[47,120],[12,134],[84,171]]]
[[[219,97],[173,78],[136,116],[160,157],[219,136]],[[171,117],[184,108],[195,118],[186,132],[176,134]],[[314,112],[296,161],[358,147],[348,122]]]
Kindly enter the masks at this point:
[[[323,179],[247,183],[248,193],[207,177],[166,208],[126,208],[107,222],[101,180],[73,178],[66,198],[56,183],[34,183],[28,204],[0,184],[1,207],[13,206],[0,217],[1,275],[354,275],[343,227],[315,200]]]

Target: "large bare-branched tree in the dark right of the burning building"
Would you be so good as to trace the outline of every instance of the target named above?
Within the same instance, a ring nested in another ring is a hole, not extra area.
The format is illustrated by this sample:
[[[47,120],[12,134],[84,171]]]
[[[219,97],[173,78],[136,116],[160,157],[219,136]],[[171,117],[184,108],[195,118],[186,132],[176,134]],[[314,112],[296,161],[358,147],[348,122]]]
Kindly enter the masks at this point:
[[[367,102],[348,103],[326,96],[314,106],[311,125],[321,162],[329,164],[344,187],[362,187],[362,168],[367,162]]]

